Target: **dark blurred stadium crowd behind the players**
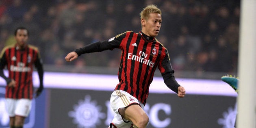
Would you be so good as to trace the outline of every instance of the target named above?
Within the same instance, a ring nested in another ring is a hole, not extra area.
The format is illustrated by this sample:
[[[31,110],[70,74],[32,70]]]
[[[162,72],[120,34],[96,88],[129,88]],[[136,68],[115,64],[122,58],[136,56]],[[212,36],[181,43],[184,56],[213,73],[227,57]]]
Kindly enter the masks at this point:
[[[157,39],[169,50],[176,71],[237,71],[240,0],[1,0],[0,48],[15,43],[14,29],[30,31],[45,65],[119,67],[120,50],[82,55],[68,52],[127,30],[141,30],[139,13],[148,4],[162,10]]]

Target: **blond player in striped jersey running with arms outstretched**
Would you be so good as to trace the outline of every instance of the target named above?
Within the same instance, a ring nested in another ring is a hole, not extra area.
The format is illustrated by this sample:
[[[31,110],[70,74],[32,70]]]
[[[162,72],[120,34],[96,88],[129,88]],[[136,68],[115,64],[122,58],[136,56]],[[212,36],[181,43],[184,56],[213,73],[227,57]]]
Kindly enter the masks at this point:
[[[109,128],[145,128],[148,115],[143,110],[149,94],[150,83],[156,68],[160,70],[167,87],[185,96],[184,87],[174,78],[167,49],[155,38],[162,24],[161,10],[148,5],[141,11],[141,31],[127,31],[105,41],[91,43],[70,52],[67,62],[74,61],[81,54],[104,50],[121,50],[118,72],[119,83],[111,94],[111,108],[115,112]]]

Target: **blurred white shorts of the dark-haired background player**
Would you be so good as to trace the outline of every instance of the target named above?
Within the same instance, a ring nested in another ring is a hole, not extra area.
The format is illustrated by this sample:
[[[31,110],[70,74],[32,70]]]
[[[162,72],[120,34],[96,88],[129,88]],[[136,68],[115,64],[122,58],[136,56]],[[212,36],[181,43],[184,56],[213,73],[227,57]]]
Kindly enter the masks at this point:
[[[11,98],[6,98],[5,100],[9,117],[15,117],[15,115],[27,117],[30,113],[32,100]]]

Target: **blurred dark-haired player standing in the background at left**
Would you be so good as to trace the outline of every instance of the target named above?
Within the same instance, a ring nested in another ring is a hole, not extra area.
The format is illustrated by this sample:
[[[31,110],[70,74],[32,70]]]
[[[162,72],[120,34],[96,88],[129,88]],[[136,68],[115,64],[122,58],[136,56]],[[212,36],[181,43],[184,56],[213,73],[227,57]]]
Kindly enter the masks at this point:
[[[15,30],[16,43],[3,48],[0,54],[0,76],[7,83],[6,105],[10,117],[10,128],[23,128],[24,120],[30,113],[33,98],[33,65],[37,68],[40,86],[36,97],[43,91],[43,65],[36,47],[28,45],[28,30]],[[9,77],[3,69],[7,65]]]

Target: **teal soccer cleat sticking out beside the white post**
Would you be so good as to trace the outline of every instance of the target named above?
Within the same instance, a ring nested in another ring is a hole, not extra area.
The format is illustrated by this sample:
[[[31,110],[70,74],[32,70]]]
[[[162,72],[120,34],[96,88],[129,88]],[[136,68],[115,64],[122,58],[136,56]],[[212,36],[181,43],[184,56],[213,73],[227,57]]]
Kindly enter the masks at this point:
[[[232,75],[222,76],[221,80],[230,85],[236,92],[238,92],[238,81],[239,79]]]

